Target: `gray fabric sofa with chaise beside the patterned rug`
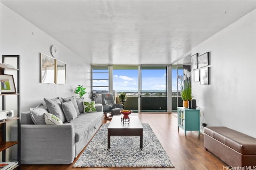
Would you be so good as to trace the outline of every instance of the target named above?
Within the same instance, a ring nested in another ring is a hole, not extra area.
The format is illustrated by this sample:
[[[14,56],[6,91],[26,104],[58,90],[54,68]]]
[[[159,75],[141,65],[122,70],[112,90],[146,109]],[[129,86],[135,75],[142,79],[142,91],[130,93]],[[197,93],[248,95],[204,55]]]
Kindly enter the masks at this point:
[[[71,122],[63,121],[63,125],[38,125],[31,109],[21,113],[21,164],[71,164],[102,125],[102,105],[96,104],[95,108],[89,113],[79,109],[79,115]],[[16,128],[17,125],[11,126],[12,141],[17,140]],[[15,147],[12,161],[17,159],[14,153]]]

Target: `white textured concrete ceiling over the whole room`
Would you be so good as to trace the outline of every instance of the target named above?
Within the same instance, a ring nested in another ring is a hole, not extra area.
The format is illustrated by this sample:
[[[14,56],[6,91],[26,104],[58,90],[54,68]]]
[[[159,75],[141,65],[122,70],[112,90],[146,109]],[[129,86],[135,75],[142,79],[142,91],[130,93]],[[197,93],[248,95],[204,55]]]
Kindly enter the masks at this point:
[[[255,0],[1,0],[93,64],[188,64]],[[180,60],[181,59],[181,60]]]

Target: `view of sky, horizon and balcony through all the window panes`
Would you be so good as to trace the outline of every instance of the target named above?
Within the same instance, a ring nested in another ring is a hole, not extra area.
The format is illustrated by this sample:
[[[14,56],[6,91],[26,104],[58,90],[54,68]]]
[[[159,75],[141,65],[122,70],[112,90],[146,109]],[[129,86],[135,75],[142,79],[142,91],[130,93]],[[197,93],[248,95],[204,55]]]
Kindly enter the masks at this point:
[[[105,69],[94,69],[93,66],[93,90],[98,94],[108,93],[108,66]],[[172,70],[172,100],[176,102],[177,74],[183,75],[183,69]],[[113,66],[112,89],[118,97],[120,93],[126,93],[125,109],[138,109],[139,74],[138,66]],[[142,66],[141,67],[141,108],[142,111],[166,111],[167,109],[167,83],[166,66]],[[117,103],[119,103],[117,98]],[[177,105],[176,105],[177,107]],[[144,109],[143,109],[144,108]]]

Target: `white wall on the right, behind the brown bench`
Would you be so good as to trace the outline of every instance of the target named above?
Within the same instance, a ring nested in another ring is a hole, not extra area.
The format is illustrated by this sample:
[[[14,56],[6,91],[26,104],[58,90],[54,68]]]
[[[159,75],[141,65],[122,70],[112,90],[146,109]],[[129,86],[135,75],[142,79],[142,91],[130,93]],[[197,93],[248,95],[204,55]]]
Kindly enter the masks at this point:
[[[210,85],[192,83],[201,120],[256,137],[256,10],[197,47],[210,52]]]

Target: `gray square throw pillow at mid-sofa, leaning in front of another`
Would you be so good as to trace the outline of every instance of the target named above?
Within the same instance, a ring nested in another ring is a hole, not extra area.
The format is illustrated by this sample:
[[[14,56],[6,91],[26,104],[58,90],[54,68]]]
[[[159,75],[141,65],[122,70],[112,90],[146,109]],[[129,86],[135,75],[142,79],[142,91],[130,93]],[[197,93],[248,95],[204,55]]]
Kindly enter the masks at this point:
[[[77,117],[76,109],[71,100],[69,100],[68,102],[62,102],[61,106],[67,122],[71,122],[72,120],[76,119]]]

